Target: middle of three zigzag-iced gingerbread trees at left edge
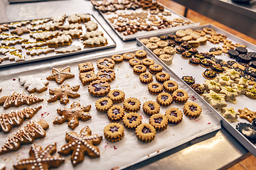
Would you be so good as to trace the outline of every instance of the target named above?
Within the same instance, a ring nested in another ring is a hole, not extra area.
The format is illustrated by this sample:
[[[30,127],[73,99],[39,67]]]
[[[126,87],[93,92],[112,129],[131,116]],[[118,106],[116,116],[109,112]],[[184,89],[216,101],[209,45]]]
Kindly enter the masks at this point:
[[[35,108],[23,108],[21,111],[11,111],[10,113],[3,113],[0,115],[0,130],[8,133],[14,128],[19,126],[25,119],[30,119],[36,114],[42,106]]]

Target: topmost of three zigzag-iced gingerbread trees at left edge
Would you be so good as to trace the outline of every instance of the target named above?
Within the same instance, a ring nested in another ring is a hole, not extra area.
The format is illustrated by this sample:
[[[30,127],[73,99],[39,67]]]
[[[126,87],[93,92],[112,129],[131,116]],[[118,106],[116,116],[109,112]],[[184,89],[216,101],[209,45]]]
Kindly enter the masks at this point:
[[[12,106],[18,107],[23,104],[32,105],[43,101],[43,98],[38,98],[33,94],[26,96],[26,94],[17,94],[15,91],[9,96],[3,96],[0,98],[0,105],[4,106],[4,109],[11,108]]]

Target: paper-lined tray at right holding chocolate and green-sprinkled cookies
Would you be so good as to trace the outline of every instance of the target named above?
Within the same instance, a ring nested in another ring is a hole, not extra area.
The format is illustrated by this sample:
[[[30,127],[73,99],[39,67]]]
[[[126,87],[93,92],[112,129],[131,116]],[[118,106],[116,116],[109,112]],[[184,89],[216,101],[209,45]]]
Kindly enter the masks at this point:
[[[198,26],[192,29],[195,30],[201,30],[202,28],[213,28],[217,33],[221,33],[225,36],[228,37],[228,40],[232,40],[232,42],[235,43],[240,43],[241,45],[246,45],[247,46],[247,50],[248,51],[254,51],[256,52],[256,46],[252,45],[250,42],[247,42],[245,40],[242,40],[241,38],[236,37],[233,34],[230,34],[228,32],[226,32],[225,30],[222,30],[218,27],[215,27],[211,24],[207,24],[207,25],[203,25],[203,26]],[[159,36],[159,35],[170,35],[172,33],[175,33],[175,31],[169,32],[169,33],[158,33],[155,34],[155,36]],[[150,38],[151,36],[146,36],[144,38]],[[143,43],[140,41],[143,38],[137,38],[137,44],[139,46],[142,46]],[[198,52],[208,52],[208,50],[210,50],[210,47],[221,47],[221,45],[223,45],[222,42],[220,42],[219,44],[213,44],[211,42],[207,42],[206,45],[200,45],[197,50]],[[143,45],[144,47],[146,47],[145,45]],[[154,55],[153,52],[151,52],[152,55]],[[156,57],[156,55],[154,55],[154,57]],[[223,53],[222,55],[215,55],[215,58],[218,59],[222,59],[225,61],[228,60],[233,60],[230,57],[228,57],[225,53]],[[180,54],[175,54],[174,55],[174,60],[173,60],[173,64],[169,65],[169,68],[175,72],[178,77],[183,77],[184,75],[190,75],[193,76],[196,79],[196,83],[203,83],[205,78],[203,78],[202,76],[202,72],[206,69],[204,67],[201,66],[192,66],[191,64],[188,64],[188,60],[184,60],[183,58],[181,58]],[[193,72],[191,73],[191,70],[193,70]],[[245,107],[247,107],[248,109],[250,109],[251,111],[255,111],[255,100],[247,98],[245,95],[240,95],[237,97],[238,103],[233,104],[227,101],[228,106],[227,108],[233,107],[235,109],[235,111],[238,111],[238,109],[243,109]],[[247,140],[246,137],[244,137],[238,130],[235,129],[235,125],[237,125],[239,122],[240,123],[249,123],[246,119],[243,118],[238,118],[238,122],[236,123],[229,123],[228,120],[226,120],[225,118],[223,118],[223,116],[221,116],[221,124],[223,125],[223,127],[225,129],[228,130],[228,132],[230,132],[249,152],[251,152],[255,157],[256,157],[256,145],[253,145],[252,142],[250,142],[249,140]]]

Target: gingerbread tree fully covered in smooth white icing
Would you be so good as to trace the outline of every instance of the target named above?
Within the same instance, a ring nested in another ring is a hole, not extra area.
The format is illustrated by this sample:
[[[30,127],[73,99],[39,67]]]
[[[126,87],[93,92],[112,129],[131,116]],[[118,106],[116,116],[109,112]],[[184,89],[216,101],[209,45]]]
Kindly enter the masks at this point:
[[[43,80],[41,78],[36,78],[33,76],[28,77],[18,77],[21,85],[28,90],[29,93],[34,93],[35,91],[38,93],[42,93],[47,90],[47,85],[49,82],[47,80]]]

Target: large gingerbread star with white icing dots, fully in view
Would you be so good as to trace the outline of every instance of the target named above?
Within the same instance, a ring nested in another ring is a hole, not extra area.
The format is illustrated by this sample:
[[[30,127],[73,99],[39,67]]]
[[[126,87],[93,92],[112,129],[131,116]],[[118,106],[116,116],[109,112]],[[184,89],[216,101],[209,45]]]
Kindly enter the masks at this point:
[[[92,135],[92,131],[88,126],[82,128],[80,134],[76,132],[66,132],[65,140],[68,144],[63,145],[58,151],[64,156],[71,155],[71,163],[73,166],[80,164],[87,154],[90,158],[100,157],[100,149],[95,147],[102,140],[102,135]]]

